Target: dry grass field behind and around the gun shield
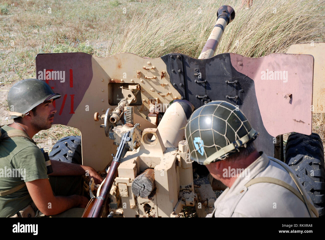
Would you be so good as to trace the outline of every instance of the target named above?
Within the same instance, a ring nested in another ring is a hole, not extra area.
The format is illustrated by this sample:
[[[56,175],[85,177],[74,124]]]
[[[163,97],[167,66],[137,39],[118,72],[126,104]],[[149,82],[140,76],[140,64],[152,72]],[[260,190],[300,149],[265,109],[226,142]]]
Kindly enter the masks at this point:
[[[254,0],[15,1],[0,3],[0,123],[7,124],[6,95],[17,81],[35,77],[38,53],[82,51],[99,57],[118,52],[160,57],[179,52],[198,57],[221,5],[236,17],[217,53],[261,57],[295,43],[324,41],[324,1]],[[34,137],[45,149],[79,130],[56,125]],[[78,132],[77,132],[78,131]],[[324,114],[313,114],[313,132],[325,140]],[[325,142],[323,142],[324,144]]]

